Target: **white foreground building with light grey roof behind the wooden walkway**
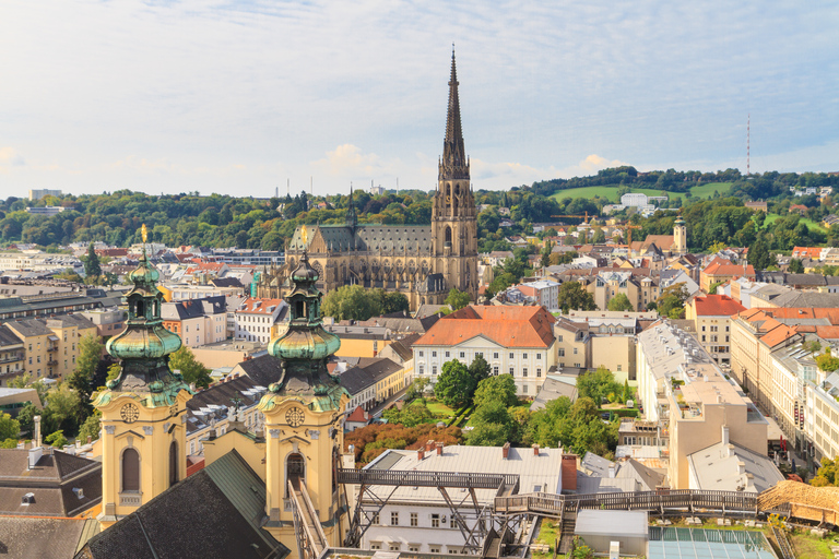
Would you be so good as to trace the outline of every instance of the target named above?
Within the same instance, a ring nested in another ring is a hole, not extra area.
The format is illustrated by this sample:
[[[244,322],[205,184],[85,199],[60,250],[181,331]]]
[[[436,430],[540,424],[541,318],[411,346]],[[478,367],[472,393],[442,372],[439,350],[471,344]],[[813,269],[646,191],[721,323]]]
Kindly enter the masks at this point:
[[[426,450],[427,449],[427,450]],[[421,451],[388,450],[365,469],[452,472],[474,474],[513,474],[519,476],[519,492],[560,493],[562,449],[501,449],[497,447],[435,445]],[[506,454],[506,455],[505,455]],[[575,462],[576,464],[576,462]],[[390,487],[375,487],[376,495],[388,495]],[[457,502],[469,493],[457,491]],[[496,489],[475,489],[481,509],[492,503]],[[366,502],[363,500],[363,503]],[[471,503],[471,500],[469,500]],[[374,504],[370,502],[369,504]],[[459,512],[471,528],[475,523],[472,507]],[[451,509],[435,487],[405,485],[391,498],[365,532],[361,548],[422,554],[462,554],[463,535],[453,521]]]

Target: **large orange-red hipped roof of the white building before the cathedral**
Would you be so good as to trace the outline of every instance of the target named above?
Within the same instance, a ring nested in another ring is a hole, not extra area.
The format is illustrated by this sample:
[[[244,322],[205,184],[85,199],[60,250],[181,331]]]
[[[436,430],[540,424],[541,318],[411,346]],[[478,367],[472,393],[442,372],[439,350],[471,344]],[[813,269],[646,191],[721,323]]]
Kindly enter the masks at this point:
[[[550,347],[556,319],[544,307],[473,307],[442,317],[414,345],[457,345],[484,336],[504,347]]]

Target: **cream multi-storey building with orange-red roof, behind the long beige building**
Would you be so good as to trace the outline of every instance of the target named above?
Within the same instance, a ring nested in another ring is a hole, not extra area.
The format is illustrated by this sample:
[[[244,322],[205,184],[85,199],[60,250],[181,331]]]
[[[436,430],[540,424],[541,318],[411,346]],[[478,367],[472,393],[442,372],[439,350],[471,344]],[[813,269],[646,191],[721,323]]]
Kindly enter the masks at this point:
[[[699,342],[717,364],[731,362],[731,316],[744,310],[726,295],[694,297],[685,307],[685,319],[696,323]]]

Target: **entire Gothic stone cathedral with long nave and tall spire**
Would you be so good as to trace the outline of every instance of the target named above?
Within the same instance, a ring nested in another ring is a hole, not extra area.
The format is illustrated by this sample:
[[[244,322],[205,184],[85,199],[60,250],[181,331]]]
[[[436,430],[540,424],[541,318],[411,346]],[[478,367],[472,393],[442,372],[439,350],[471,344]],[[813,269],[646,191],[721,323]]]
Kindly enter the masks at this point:
[[[320,277],[317,287],[321,292],[342,285],[380,287],[403,293],[412,309],[441,305],[452,288],[476,300],[477,210],[463,146],[453,52],[446,139],[430,226],[358,224],[351,191],[346,223],[298,227],[286,249],[285,265],[260,277],[257,296],[287,297],[293,285],[291,273],[304,252]]]

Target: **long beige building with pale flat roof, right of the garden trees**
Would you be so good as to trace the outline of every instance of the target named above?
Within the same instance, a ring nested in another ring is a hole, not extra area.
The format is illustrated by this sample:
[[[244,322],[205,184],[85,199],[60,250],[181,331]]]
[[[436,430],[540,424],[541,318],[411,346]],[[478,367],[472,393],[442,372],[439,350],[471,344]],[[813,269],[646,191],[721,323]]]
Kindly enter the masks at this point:
[[[639,396],[670,433],[670,486],[696,484],[692,455],[735,444],[766,455],[768,421],[690,335],[661,320],[638,335]]]

